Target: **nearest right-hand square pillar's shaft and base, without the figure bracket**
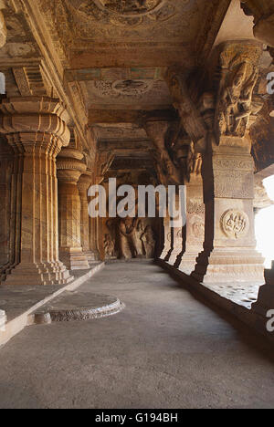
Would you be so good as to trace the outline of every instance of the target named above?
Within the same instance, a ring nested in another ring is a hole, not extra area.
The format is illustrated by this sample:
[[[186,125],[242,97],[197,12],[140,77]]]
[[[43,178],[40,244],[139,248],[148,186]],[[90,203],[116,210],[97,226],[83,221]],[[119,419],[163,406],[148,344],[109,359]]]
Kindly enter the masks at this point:
[[[244,143],[223,137],[204,159],[205,251],[194,274],[200,282],[263,280],[264,260],[255,250],[254,161]]]

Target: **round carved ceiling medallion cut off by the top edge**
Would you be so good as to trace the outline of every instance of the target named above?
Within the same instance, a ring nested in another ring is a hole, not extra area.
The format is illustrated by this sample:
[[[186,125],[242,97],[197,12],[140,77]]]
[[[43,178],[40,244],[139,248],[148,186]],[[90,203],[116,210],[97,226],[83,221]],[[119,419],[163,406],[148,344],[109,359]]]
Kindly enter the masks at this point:
[[[116,15],[136,17],[156,12],[165,0],[94,0],[94,3]]]

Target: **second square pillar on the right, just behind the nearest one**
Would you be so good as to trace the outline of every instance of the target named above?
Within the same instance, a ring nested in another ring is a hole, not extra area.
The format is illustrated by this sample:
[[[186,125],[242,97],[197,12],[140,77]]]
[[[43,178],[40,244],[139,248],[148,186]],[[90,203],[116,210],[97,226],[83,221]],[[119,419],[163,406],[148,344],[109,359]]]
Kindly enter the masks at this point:
[[[203,251],[205,240],[205,204],[203,180],[200,174],[191,174],[186,183],[185,251],[178,268],[186,275],[195,270],[196,258]]]

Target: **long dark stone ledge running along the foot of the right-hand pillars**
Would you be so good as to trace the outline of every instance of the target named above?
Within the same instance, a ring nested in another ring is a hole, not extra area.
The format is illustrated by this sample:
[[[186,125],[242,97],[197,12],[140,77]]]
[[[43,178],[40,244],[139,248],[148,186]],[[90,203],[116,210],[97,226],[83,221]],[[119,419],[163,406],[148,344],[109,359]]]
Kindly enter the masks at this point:
[[[217,292],[218,287],[214,289],[214,286],[210,287],[207,284],[196,282],[191,276],[185,275],[182,271],[174,268],[163,260],[156,261],[158,266],[161,266],[171,276],[184,282],[184,286],[187,290],[195,296],[201,296],[205,298],[205,301],[213,303],[216,307],[219,307],[227,311],[230,315],[237,318],[240,322],[244,323],[251,331],[256,331],[258,334],[263,335],[272,344],[274,343],[274,333],[270,333],[267,330],[267,322],[269,318],[260,316],[255,310],[252,309],[250,301],[247,299],[247,303],[244,301],[236,302],[233,299],[224,297]],[[258,286],[258,284],[256,285]]]

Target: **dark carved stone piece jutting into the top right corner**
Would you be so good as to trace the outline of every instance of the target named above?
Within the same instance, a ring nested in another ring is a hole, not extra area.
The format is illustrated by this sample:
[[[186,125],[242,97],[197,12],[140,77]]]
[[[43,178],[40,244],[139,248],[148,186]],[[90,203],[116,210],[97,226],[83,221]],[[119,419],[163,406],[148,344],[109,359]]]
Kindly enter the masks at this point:
[[[241,5],[248,16],[254,16],[254,36],[274,47],[273,0],[245,0],[241,1]]]

